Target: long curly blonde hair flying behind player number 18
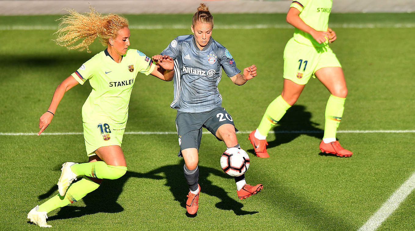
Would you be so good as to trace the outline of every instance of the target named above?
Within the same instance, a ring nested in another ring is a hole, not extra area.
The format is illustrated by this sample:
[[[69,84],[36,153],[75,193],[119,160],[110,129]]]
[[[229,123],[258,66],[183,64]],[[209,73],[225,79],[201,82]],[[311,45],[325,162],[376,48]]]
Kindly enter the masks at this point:
[[[83,51],[86,49],[88,53],[89,45],[99,37],[100,42],[104,46],[108,46],[110,38],[116,38],[118,31],[124,27],[128,27],[128,20],[116,14],[99,14],[94,7],[90,6],[91,12],[79,14],[75,10],[67,10],[69,15],[61,17],[59,29],[56,31],[58,35],[54,40],[57,45],[64,46],[69,50],[78,49]],[[74,45],[78,40],[81,42]]]

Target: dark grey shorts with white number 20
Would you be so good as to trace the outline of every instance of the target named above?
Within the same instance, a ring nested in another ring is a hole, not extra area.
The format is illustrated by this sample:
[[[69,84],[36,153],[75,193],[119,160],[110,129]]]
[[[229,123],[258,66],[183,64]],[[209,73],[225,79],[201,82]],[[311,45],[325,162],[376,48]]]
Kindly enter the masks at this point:
[[[217,129],[223,124],[235,126],[231,115],[223,107],[215,108],[209,112],[198,113],[178,111],[176,115],[176,128],[180,146],[178,156],[181,156],[181,151],[186,148],[199,149],[202,128],[207,129],[207,131],[216,136]],[[237,131],[238,129],[235,128],[235,132]],[[220,139],[218,140],[221,141]]]

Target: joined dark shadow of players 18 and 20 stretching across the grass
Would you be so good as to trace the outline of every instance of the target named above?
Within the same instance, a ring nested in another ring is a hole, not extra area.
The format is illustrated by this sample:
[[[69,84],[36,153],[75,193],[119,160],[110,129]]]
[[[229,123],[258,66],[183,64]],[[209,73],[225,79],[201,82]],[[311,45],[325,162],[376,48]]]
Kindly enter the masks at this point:
[[[161,180],[166,179],[166,186],[170,187],[171,193],[176,201],[180,202],[181,207],[185,208],[183,212],[186,211],[186,195],[188,194],[188,186],[183,176],[183,159],[180,164],[175,165],[166,165],[158,169],[149,171],[148,173],[137,173],[133,171],[127,171],[124,176],[116,180],[104,180],[101,183],[101,186],[95,191],[88,193],[83,198],[85,206],[77,206],[73,204],[71,206],[65,206],[58,208],[56,215],[48,218],[48,221],[58,220],[58,219],[69,219],[74,217],[82,217],[85,215],[96,214],[99,212],[104,213],[117,213],[124,211],[124,208],[117,203],[117,199],[122,193],[123,186],[125,182],[130,178],[146,178],[146,179],[155,179]],[[235,199],[230,198],[227,195],[227,192],[216,185],[213,185],[207,177],[210,174],[217,176],[227,177],[230,181],[234,181],[230,176],[228,177],[222,171],[217,169],[199,166],[199,184],[201,185],[202,193],[215,196],[221,201],[216,204],[216,207],[222,210],[233,210],[236,215],[246,215],[246,214],[255,214],[258,212],[249,212],[242,210],[243,204],[237,202]],[[160,176],[159,174],[164,174]],[[46,193],[39,195],[39,200],[44,200],[56,194],[58,186],[54,185]],[[232,193],[235,198],[237,198],[236,189]],[[239,199],[237,199],[239,200]],[[203,199],[202,199],[203,201]],[[177,211],[181,212],[181,211]],[[186,213],[187,214],[187,213]],[[188,216],[191,216],[187,214]]]

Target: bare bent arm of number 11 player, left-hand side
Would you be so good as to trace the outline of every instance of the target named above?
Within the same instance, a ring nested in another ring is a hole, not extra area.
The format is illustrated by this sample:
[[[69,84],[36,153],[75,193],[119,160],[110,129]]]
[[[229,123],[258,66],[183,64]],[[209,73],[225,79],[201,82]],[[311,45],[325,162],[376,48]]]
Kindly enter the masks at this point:
[[[290,7],[288,10],[286,21],[293,25],[295,28],[304,31],[305,33],[309,33],[317,43],[324,43],[327,38],[329,38],[329,33],[327,31],[316,31],[312,27],[305,24],[303,19],[300,18],[300,11],[294,7]]]

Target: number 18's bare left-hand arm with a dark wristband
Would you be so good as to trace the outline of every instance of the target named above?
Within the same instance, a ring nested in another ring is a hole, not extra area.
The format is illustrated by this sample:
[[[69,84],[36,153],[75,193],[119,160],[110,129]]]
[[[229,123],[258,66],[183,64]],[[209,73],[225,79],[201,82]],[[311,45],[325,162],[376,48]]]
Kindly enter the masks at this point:
[[[61,102],[65,92],[67,92],[69,89],[73,88],[77,84],[78,84],[78,81],[76,81],[76,79],[73,78],[73,76],[69,76],[68,78],[63,80],[61,84],[58,85],[58,87],[55,90],[55,93],[53,94],[52,102],[49,105],[48,110],[43,115],[41,115],[41,117],[39,119],[39,129],[40,129],[40,131],[39,131],[39,133],[37,133],[38,136],[51,123],[51,121],[52,121],[52,119],[55,115],[56,108],[58,107],[59,102]]]

